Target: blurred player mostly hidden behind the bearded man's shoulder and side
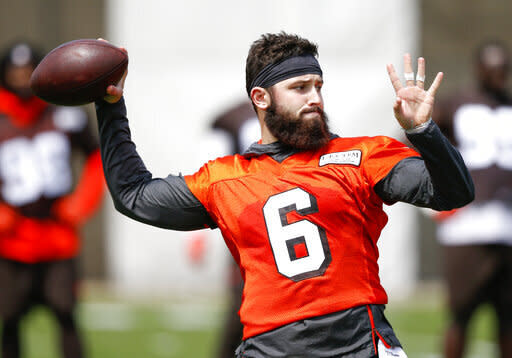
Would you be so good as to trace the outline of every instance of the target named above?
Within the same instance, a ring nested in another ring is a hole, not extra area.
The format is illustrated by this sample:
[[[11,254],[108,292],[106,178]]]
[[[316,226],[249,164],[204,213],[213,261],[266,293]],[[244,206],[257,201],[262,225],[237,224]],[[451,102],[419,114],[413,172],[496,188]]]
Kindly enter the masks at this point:
[[[213,136],[228,144],[226,153],[217,153],[218,157],[244,153],[251,144],[261,137],[258,118],[251,102],[244,101],[221,113],[212,123]],[[211,153],[210,153],[211,155]],[[226,310],[222,336],[219,344],[218,358],[232,358],[233,352],[240,345],[243,326],[238,310],[242,304],[244,282],[240,268],[234,260],[229,265],[229,302]]]

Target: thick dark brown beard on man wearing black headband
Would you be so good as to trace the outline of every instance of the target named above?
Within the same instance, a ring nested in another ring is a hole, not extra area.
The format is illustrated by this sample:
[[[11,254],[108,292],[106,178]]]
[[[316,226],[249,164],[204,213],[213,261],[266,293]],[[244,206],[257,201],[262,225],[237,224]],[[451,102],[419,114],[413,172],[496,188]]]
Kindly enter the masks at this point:
[[[302,115],[316,112],[320,118],[303,119]],[[270,133],[286,146],[297,149],[318,149],[329,142],[327,115],[322,108],[313,107],[298,116],[279,111],[272,101],[265,113],[265,124]]]

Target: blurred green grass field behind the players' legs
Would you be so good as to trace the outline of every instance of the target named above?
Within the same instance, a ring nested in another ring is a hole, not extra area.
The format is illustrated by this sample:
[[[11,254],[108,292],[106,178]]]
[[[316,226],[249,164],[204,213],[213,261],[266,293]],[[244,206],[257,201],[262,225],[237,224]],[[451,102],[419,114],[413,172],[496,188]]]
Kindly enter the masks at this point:
[[[387,317],[409,358],[441,358],[445,315],[441,300],[421,294],[388,306]],[[80,324],[89,358],[213,358],[223,306],[215,300],[165,299],[151,302],[87,295]],[[25,358],[59,357],[51,316],[35,309],[24,321]],[[469,358],[490,358],[493,315],[478,311],[471,330]]]

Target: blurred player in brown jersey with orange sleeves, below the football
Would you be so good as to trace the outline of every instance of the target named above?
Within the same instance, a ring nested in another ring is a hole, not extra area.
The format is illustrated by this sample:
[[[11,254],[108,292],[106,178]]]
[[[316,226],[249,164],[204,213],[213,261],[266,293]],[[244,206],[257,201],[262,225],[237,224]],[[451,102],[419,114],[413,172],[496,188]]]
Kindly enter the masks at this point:
[[[0,59],[0,320],[2,357],[18,358],[20,321],[35,304],[59,327],[62,356],[83,348],[74,313],[78,231],[98,208],[104,179],[97,140],[85,111],[33,96],[40,60],[19,42]],[[85,155],[73,190],[71,151]]]

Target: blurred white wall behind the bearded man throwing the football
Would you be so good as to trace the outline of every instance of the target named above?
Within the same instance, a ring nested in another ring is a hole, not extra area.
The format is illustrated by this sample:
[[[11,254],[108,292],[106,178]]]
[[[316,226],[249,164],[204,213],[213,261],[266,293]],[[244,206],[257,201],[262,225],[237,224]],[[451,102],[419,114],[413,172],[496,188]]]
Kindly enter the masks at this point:
[[[400,136],[385,65],[392,62],[401,73],[403,53],[416,54],[417,7],[411,0],[110,0],[106,37],[129,51],[125,97],[139,153],[155,176],[199,168],[198,143],[209,121],[245,96],[250,44],[281,30],[318,43],[335,132]],[[389,212],[382,278],[392,294],[403,294],[415,279],[413,215],[405,206]],[[185,255],[191,233],[152,228],[113,210],[108,222],[110,272],[118,287],[222,291],[227,252],[215,234],[206,241],[205,265],[192,267]]]

